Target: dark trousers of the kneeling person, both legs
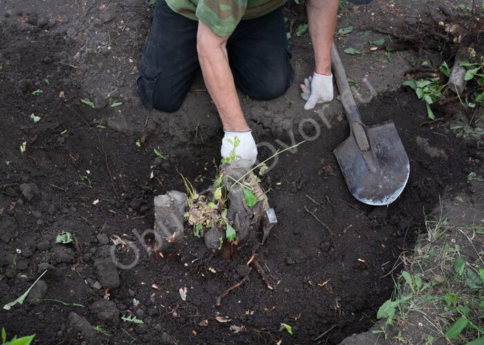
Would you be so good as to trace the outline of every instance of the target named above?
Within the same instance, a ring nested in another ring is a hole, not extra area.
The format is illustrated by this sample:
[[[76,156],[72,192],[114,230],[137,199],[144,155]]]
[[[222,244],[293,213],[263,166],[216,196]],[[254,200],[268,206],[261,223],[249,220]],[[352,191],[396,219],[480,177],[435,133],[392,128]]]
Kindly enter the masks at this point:
[[[157,1],[137,81],[147,108],[180,108],[200,68],[197,27],[197,21],[176,14],[165,0]],[[227,52],[236,86],[252,99],[279,97],[294,78],[282,8],[241,21],[227,41]]]

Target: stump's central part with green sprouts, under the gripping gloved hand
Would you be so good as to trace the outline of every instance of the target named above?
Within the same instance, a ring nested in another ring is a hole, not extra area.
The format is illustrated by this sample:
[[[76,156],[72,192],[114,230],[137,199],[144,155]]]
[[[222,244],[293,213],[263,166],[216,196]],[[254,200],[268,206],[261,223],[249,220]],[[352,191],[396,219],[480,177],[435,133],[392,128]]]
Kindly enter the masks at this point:
[[[254,168],[250,162],[238,160],[239,139],[235,137],[230,144],[232,152],[222,160],[210,188],[197,193],[183,177],[187,189],[185,220],[193,226],[194,235],[204,237],[205,245],[212,249],[221,249],[224,242],[236,246],[248,237],[251,228],[259,227],[269,206],[266,191],[261,188],[254,170],[259,169],[259,175],[263,175],[267,161],[301,143],[276,152]]]

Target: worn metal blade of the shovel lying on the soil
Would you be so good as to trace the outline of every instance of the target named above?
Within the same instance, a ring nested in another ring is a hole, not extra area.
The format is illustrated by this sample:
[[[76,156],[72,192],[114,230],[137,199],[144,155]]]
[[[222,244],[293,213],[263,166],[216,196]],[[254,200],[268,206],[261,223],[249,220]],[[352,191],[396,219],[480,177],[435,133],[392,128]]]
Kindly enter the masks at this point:
[[[409,179],[409,157],[393,121],[364,126],[364,130],[370,150],[360,150],[352,132],[333,153],[357,200],[374,206],[391,204]]]

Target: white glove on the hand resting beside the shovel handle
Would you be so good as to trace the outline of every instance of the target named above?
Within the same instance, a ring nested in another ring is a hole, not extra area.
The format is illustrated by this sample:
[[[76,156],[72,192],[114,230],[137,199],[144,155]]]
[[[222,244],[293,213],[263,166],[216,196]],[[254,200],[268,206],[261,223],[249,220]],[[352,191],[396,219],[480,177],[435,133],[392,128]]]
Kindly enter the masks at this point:
[[[320,75],[313,73],[313,77],[304,79],[301,84],[301,98],[306,100],[304,109],[310,110],[316,103],[324,103],[333,100],[333,75]]]

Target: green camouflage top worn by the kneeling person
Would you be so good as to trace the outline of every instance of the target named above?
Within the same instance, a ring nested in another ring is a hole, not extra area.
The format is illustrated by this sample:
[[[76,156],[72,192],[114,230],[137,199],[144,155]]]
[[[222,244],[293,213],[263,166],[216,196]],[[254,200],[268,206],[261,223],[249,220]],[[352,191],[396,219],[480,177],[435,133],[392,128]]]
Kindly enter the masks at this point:
[[[160,0],[163,1],[163,0]],[[254,19],[272,12],[287,0],[165,0],[171,10],[201,20],[218,36],[234,32],[241,19]]]

